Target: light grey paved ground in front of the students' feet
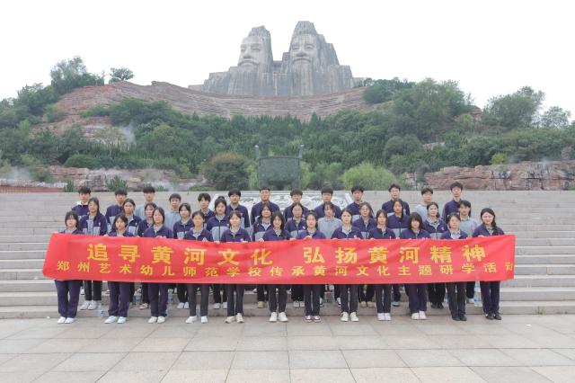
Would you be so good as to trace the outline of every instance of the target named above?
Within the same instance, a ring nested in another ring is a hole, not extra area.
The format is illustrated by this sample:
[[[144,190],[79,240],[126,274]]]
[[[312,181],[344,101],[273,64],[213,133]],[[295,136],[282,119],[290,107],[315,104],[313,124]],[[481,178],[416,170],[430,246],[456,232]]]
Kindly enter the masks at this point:
[[[243,325],[211,317],[186,325],[128,318],[104,325],[79,318],[0,321],[0,381],[249,381],[249,382],[573,382],[575,316],[469,316],[391,323],[360,316],[321,324],[291,317],[270,324],[249,316]]]

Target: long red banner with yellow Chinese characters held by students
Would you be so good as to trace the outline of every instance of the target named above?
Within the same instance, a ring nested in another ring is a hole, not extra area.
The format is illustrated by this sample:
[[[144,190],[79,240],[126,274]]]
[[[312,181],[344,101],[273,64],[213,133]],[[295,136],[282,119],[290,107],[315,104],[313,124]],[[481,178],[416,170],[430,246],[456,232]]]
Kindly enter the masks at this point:
[[[431,283],[508,280],[514,263],[515,236],[216,244],[54,234],[43,272],[57,280],[92,281]]]

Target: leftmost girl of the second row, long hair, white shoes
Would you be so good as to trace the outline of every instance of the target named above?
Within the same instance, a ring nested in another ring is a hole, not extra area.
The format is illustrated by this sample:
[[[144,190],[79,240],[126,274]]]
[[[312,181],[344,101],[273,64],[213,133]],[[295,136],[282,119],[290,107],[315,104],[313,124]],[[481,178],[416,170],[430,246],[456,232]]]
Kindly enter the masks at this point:
[[[80,218],[80,229],[88,236],[105,236],[108,220],[100,212],[100,200],[88,200],[88,214]],[[93,310],[102,305],[102,281],[84,281],[84,304],[81,310]]]

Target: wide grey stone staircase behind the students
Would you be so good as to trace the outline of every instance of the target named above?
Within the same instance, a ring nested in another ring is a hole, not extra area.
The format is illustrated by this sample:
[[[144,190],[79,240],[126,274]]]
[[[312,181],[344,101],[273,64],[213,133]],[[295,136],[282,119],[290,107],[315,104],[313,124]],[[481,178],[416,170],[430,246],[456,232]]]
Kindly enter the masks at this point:
[[[130,194],[137,203],[142,201],[140,192]],[[156,200],[163,204],[168,195],[159,192]],[[191,202],[192,208],[197,207],[197,192],[181,195],[184,201]],[[102,207],[113,202],[112,193],[97,196]],[[405,191],[402,197],[415,206],[420,193]],[[375,209],[387,199],[386,191],[367,191],[365,195]],[[440,206],[449,199],[447,191],[436,191],[434,200]],[[498,225],[517,236],[516,278],[501,287],[501,312],[575,313],[575,192],[464,191],[464,199],[472,202],[474,218],[489,206],[497,214]],[[63,227],[64,215],[75,200],[75,193],[0,194],[0,318],[57,316],[54,282],[46,279],[41,270],[49,236]],[[175,294],[173,300],[177,301]],[[268,315],[267,309],[256,307],[251,291],[246,292],[244,302],[247,316]],[[104,306],[107,307],[107,296]],[[394,307],[394,314],[405,314],[406,306]],[[467,309],[470,314],[481,313],[481,307],[468,305]],[[288,316],[302,314],[303,309],[288,305]],[[339,309],[325,302],[322,314],[336,315]],[[375,309],[360,308],[359,314],[375,315]],[[447,309],[429,308],[429,314],[447,315]],[[97,313],[82,311],[79,315]],[[130,308],[129,316],[148,315],[148,310]],[[209,315],[225,316],[226,312],[210,308]],[[171,306],[170,316],[187,316],[187,310]]]

